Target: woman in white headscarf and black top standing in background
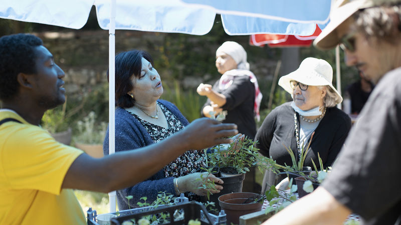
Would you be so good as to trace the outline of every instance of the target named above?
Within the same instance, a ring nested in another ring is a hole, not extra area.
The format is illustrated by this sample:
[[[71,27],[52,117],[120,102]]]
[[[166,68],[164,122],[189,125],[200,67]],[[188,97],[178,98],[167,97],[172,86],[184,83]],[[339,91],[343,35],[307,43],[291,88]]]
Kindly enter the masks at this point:
[[[196,91],[208,97],[202,115],[211,117],[223,111],[223,122],[236,123],[238,131],[254,139],[255,116],[259,119],[262,93],[253,72],[249,70],[247,52],[237,42],[226,41],[216,51],[216,67],[222,74],[212,86],[201,83]]]

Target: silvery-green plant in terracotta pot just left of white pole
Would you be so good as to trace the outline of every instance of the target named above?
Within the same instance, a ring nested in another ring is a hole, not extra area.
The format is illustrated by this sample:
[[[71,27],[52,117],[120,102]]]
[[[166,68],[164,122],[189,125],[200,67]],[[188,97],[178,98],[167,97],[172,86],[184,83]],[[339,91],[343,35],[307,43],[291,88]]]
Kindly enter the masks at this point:
[[[75,146],[84,150],[92,157],[103,157],[103,139],[106,133],[107,123],[96,123],[94,111],[77,122],[77,135],[74,135]]]

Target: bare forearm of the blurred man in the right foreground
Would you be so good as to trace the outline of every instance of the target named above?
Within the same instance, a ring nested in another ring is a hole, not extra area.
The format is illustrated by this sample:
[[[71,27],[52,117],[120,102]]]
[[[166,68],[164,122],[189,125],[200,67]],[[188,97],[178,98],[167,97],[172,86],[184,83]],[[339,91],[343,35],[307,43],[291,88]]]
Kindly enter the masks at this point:
[[[343,224],[351,210],[323,187],[291,203],[262,225]]]

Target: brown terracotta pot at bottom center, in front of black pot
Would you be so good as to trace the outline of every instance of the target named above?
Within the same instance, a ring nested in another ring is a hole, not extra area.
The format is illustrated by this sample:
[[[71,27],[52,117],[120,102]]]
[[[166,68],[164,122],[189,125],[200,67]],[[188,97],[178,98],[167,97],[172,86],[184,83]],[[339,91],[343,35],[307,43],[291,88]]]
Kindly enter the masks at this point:
[[[252,199],[257,199],[261,196],[251,192],[235,192],[221,195],[219,197],[219,205],[227,214],[227,224],[239,224],[241,215],[260,211],[262,202],[254,202]]]

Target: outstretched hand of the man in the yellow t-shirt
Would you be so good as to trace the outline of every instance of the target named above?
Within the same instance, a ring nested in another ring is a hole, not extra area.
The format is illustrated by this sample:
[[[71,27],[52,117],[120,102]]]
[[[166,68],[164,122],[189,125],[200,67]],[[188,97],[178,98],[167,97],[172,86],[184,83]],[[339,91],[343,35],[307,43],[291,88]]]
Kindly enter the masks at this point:
[[[227,136],[238,133],[234,123],[222,123],[205,117],[193,120],[181,131],[185,137],[183,142],[188,144],[188,149],[203,149],[221,143],[231,143],[233,140]]]

